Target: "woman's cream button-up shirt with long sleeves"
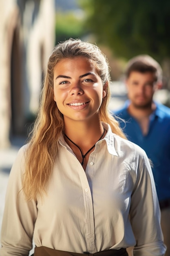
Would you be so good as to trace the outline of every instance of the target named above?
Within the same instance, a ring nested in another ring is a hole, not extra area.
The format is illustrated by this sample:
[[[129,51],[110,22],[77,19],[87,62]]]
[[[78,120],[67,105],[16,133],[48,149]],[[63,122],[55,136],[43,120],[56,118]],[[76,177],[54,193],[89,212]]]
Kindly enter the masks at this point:
[[[37,247],[95,253],[135,246],[134,255],[165,253],[160,210],[144,150],[112,133],[98,141],[86,172],[64,138],[47,194],[24,200],[23,146],[11,169],[2,222],[0,256],[27,256]]]

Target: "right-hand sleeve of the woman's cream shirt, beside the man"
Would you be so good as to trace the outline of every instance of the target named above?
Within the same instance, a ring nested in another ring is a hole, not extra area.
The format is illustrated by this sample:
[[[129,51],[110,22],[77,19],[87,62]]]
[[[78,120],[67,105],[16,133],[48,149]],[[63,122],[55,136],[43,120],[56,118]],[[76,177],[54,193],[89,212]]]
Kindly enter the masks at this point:
[[[160,225],[160,208],[148,157],[139,160],[137,180],[131,196],[130,222],[135,235],[134,256],[163,256],[166,246]]]

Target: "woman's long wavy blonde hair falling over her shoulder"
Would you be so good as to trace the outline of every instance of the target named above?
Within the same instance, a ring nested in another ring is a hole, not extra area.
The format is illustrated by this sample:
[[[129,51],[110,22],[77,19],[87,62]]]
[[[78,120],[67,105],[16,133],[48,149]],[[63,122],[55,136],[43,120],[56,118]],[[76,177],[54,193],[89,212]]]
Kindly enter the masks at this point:
[[[106,97],[99,109],[100,119],[110,124],[115,134],[125,138],[118,122],[108,110],[110,67],[106,56],[96,45],[82,42],[80,39],[74,40],[71,38],[59,43],[49,57],[41,94],[40,109],[26,149],[26,166],[23,179],[26,200],[36,200],[37,195],[42,196],[42,193],[45,192],[57,155],[58,139],[64,132],[63,116],[53,99],[54,67],[63,58],[75,58],[77,56],[89,58],[95,65],[103,85],[108,83]]]

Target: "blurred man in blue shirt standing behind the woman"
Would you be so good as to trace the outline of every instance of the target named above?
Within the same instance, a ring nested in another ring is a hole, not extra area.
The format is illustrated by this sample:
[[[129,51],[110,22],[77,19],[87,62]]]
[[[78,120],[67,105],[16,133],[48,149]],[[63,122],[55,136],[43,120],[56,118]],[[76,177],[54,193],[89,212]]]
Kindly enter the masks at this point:
[[[127,138],[152,161],[165,255],[170,256],[170,108],[153,101],[154,92],[162,86],[159,63],[148,55],[132,58],[126,68],[126,86],[128,101],[115,115]]]

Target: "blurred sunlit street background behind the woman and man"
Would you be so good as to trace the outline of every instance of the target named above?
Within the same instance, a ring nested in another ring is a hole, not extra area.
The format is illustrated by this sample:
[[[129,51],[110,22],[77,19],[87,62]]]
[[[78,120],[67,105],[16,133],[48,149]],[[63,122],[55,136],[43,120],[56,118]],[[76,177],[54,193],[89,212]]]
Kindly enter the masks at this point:
[[[163,68],[155,98],[170,107],[170,1],[0,1],[0,227],[12,162],[35,120],[48,57],[68,38],[97,43],[111,67],[109,108],[126,99],[129,58],[149,54]]]

